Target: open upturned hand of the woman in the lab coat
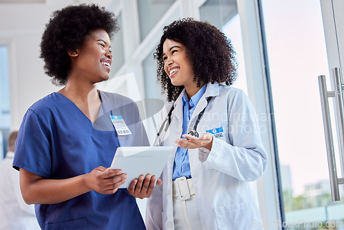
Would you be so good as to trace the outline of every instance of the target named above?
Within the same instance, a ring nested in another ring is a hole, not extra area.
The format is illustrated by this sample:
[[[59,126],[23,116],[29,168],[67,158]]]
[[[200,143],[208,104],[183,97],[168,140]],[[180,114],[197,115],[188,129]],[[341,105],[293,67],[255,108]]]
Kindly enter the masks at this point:
[[[178,147],[183,149],[196,149],[200,147],[205,147],[208,150],[211,150],[213,146],[213,134],[205,133],[200,138],[191,136],[189,134],[183,134],[182,137],[175,140],[175,143]]]

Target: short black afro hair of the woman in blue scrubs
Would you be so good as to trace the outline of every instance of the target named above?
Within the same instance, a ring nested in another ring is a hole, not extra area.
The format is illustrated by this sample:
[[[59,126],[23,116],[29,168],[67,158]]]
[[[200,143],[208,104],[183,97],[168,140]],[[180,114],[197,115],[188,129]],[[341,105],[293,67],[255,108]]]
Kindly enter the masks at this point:
[[[40,57],[45,62],[45,74],[52,77],[54,85],[67,83],[70,69],[67,49],[80,48],[85,36],[98,29],[105,30],[111,39],[119,26],[113,12],[96,4],[67,6],[52,13],[41,39]]]

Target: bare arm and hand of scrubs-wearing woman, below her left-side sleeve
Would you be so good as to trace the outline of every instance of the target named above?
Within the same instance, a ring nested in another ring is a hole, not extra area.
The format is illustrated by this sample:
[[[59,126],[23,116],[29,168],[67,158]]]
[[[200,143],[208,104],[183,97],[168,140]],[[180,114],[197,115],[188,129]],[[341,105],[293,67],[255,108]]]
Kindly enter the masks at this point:
[[[122,171],[97,167],[89,174],[63,180],[47,179],[19,169],[21,193],[28,204],[54,204],[72,199],[88,191],[114,194],[127,175]]]

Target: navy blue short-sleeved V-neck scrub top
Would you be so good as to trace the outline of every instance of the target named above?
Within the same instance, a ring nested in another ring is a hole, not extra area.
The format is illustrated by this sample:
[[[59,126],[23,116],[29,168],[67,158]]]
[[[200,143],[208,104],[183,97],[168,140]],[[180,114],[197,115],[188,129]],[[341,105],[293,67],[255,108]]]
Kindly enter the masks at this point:
[[[57,92],[34,103],[19,129],[13,167],[50,179],[72,178],[109,167],[118,146],[149,145],[136,103],[119,94],[100,96],[96,123]],[[132,134],[117,136],[110,114],[122,116]],[[90,191],[35,209],[42,229],[146,229],[127,189],[111,195]]]

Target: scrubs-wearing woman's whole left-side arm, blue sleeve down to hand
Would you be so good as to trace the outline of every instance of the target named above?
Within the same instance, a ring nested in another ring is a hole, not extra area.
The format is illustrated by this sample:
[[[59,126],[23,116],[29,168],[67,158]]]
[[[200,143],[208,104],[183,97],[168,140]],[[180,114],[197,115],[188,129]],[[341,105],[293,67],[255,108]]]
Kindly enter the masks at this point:
[[[54,174],[52,151],[58,149],[56,146],[58,141],[55,141],[54,135],[55,118],[43,105],[37,105],[36,109],[36,112],[28,109],[23,118],[13,160],[13,167],[19,170],[21,193],[25,202],[53,204],[88,191],[97,191],[101,194],[116,192],[118,187],[125,182],[126,175],[120,170],[97,167],[88,174],[85,172],[81,175],[72,174],[80,176],[62,177],[65,179],[50,178]]]

